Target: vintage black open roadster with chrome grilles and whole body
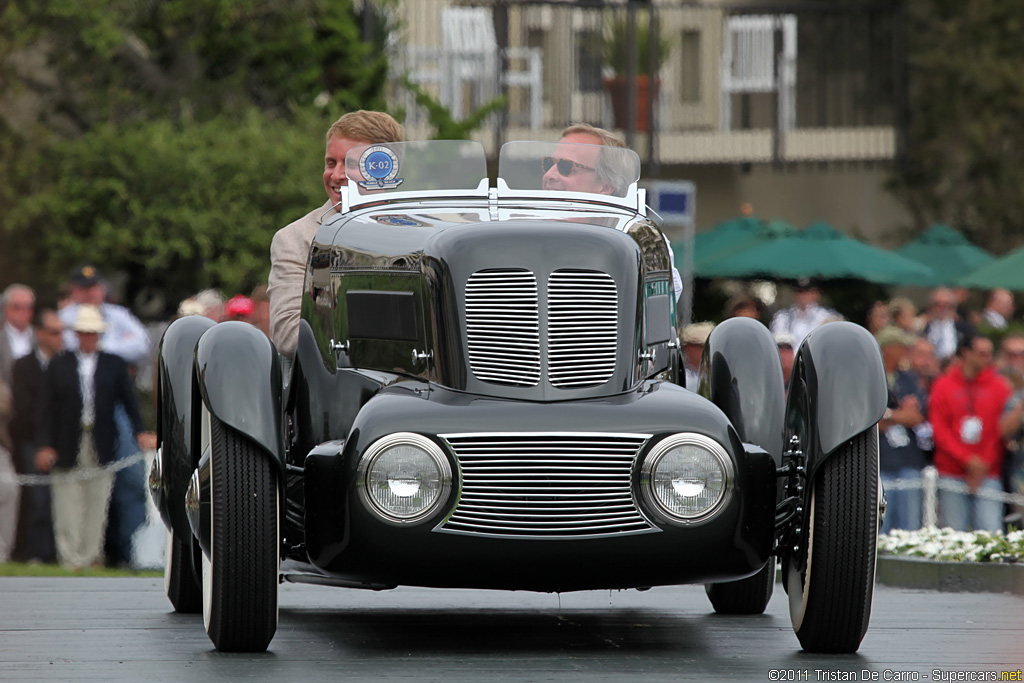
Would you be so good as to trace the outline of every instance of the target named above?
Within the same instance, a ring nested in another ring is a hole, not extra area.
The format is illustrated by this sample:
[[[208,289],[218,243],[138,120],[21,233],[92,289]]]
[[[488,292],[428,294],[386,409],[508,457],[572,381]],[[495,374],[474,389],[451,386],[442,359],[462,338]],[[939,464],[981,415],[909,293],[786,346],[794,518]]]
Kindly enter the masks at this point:
[[[715,610],[756,614],[776,559],[801,645],[859,647],[878,345],[818,328],[786,395],[771,334],[730,319],[685,389],[639,160],[602,147],[577,168],[571,152],[508,143],[492,187],[475,142],[354,150],[309,253],[294,359],[245,323],[168,328],[150,485],[167,595],[217,649],[267,648],[282,581],[703,584]],[[607,194],[542,181],[614,164],[626,181]]]

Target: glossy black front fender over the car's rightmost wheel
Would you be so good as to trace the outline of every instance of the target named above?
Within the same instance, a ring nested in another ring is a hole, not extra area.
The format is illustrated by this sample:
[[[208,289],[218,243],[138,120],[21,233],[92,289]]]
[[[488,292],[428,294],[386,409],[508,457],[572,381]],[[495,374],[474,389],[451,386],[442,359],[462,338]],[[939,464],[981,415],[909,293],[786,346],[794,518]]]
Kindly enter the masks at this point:
[[[878,424],[889,391],[882,352],[867,330],[836,322],[811,332],[797,351],[786,427],[801,436],[809,476],[841,444]]]

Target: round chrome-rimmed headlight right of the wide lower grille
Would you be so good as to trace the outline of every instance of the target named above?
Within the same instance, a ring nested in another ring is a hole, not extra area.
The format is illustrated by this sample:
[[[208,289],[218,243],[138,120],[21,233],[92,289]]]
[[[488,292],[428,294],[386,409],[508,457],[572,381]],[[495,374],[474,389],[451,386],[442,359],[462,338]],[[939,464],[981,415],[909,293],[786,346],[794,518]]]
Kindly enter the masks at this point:
[[[732,484],[724,449],[700,434],[677,434],[659,443],[643,464],[649,502],[671,519],[694,521],[721,508]]]

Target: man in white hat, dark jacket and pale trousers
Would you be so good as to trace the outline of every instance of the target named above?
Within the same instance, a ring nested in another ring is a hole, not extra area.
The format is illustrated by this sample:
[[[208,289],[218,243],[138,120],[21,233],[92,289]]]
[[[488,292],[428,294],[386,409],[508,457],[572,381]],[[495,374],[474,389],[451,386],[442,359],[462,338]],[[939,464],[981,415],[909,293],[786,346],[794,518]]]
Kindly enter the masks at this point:
[[[117,455],[114,412],[121,404],[139,445],[155,449],[144,432],[125,361],[98,349],[106,329],[96,306],[79,306],[72,325],[78,350],[65,351],[46,369],[39,402],[36,467],[54,470],[53,537],[62,566],[78,569],[102,561],[113,474],[103,466]]]

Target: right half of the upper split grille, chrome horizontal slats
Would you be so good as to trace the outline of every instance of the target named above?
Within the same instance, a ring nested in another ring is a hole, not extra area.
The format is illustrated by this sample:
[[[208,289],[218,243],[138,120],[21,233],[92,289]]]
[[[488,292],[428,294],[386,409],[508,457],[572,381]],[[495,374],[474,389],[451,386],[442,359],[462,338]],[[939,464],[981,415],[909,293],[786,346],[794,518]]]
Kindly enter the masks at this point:
[[[548,279],[548,379],[583,388],[615,372],[615,281],[593,270],[556,270]]]

